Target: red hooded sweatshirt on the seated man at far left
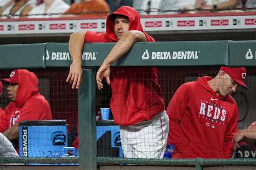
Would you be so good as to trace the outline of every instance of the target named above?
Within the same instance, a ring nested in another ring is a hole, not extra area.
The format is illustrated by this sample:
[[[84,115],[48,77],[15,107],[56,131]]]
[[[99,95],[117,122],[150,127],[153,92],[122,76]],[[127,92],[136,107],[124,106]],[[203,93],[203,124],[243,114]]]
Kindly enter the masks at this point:
[[[18,90],[15,101],[5,107],[0,132],[4,132],[21,120],[50,120],[48,101],[38,92],[38,78],[28,70],[18,71]]]

